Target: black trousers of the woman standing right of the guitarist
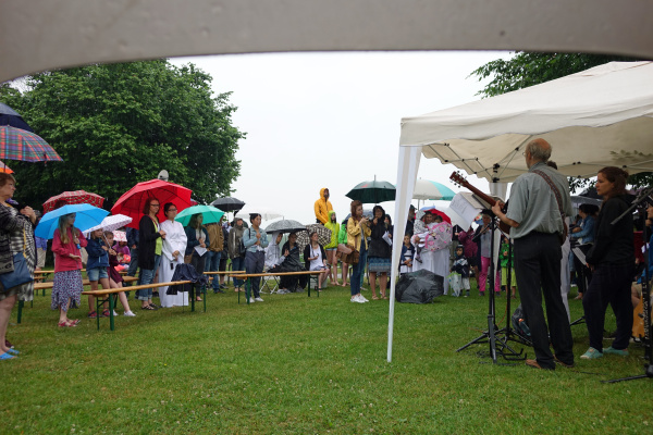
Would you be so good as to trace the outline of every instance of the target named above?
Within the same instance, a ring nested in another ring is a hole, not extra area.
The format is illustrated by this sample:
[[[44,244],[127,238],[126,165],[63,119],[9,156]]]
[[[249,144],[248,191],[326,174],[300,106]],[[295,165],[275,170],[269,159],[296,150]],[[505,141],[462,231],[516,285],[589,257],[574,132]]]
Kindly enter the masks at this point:
[[[582,295],[586,323],[590,334],[590,346],[603,351],[603,326],[605,310],[611,304],[617,318],[617,335],[613,348],[626,349],[632,332],[632,302],[630,282],[632,268],[621,264],[600,264],[594,269],[592,282]]]

